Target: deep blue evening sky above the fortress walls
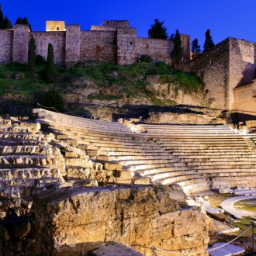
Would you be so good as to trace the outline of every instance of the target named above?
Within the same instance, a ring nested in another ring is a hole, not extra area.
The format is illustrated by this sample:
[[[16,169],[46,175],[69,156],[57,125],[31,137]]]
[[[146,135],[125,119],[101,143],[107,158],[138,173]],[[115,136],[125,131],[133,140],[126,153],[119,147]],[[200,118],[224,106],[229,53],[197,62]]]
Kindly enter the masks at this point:
[[[154,19],[164,21],[168,34],[189,34],[198,38],[201,50],[206,29],[213,42],[227,37],[256,42],[255,0],[0,0],[4,16],[12,22],[26,17],[33,31],[45,31],[47,20],[79,24],[81,30],[102,25],[105,19],[124,19],[147,37]]]

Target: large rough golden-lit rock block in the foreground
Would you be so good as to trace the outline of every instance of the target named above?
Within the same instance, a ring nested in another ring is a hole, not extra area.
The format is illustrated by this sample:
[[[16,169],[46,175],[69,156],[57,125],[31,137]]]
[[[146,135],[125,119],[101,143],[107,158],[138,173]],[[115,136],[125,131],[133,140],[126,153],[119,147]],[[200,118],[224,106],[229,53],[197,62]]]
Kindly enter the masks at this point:
[[[137,185],[41,192],[35,207],[36,224],[43,227],[40,251],[86,255],[113,241],[144,255],[151,255],[146,247],[153,245],[203,251],[209,240],[206,216],[199,207],[179,206],[170,191]]]

